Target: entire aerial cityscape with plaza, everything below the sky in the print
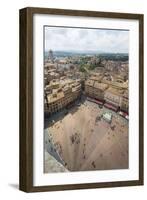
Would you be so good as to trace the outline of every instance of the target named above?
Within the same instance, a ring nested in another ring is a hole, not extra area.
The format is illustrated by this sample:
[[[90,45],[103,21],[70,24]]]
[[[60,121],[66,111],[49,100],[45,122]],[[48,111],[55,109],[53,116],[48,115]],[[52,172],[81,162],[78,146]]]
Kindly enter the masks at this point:
[[[127,169],[128,54],[46,52],[44,172]]]

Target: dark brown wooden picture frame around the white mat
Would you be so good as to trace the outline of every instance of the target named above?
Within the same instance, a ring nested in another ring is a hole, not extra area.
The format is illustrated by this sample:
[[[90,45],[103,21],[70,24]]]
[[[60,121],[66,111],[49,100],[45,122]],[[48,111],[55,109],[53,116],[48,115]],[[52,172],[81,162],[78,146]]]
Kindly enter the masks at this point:
[[[33,186],[33,15],[136,19],[139,21],[139,180]],[[27,7],[19,10],[19,189],[24,192],[137,186],[144,184],[144,15]]]

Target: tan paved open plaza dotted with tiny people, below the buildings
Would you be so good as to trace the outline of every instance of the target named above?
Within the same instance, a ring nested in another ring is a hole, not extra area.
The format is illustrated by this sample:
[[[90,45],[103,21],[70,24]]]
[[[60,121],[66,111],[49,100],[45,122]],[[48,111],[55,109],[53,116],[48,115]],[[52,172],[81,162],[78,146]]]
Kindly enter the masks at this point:
[[[85,100],[53,115],[46,130],[68,171],[129,167],[128,121],[105,107]]]

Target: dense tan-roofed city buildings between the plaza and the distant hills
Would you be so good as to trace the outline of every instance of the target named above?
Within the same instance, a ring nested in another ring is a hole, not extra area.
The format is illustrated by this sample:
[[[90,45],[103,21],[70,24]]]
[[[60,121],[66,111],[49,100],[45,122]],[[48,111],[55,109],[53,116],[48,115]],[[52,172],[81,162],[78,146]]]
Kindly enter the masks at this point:
[[[95,65],[95,69],[84,67],[85,71],[81,72],[79,64],[73,64],[79,60],[83,62],[83,57],[56,60],[53,51],[49,51],[44,66],[45,113],[58,112],[81,95],[94,98],[98,104],[112,110],[120,109],[128,113],[128,63],[105,62],[91,56],[86,64]]]

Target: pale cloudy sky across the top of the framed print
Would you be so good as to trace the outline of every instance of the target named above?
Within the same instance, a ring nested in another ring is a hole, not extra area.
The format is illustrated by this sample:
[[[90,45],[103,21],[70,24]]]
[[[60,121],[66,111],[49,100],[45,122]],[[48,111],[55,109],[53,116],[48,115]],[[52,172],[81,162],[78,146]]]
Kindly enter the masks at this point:
[[[129,31],[45,27],[45,51],[128,53]]]

